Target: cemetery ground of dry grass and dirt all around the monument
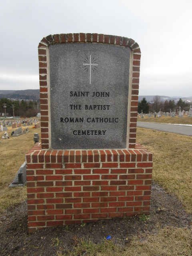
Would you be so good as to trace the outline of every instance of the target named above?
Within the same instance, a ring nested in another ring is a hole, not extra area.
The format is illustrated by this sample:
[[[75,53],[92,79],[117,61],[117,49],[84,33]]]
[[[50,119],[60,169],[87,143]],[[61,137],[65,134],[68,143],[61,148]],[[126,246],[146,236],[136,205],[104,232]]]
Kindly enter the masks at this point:
[[[166,118],[166,121],[165,121]],[[192,124],[192,118],[138,118]],[[150,216],[100,220],[28,235],[26,186],[8,188],[40,128],[3,140],[0,132],[0,255],[192,255],[192,137],[138,128],[137,142],[153,153]],[[110,235],[112,239],[106,240]]]

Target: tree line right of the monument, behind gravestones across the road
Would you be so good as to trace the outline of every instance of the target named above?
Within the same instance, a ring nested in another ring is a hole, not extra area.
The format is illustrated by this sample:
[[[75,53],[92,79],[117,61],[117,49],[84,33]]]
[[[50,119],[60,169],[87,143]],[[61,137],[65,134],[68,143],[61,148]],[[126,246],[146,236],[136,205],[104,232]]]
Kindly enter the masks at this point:
[[[143,111],[144,114],[148,114],[149,112],[159,112],[160,109],[162,112],[170,112],[179,109],[181,110],[189,110],[190,104],[183,101],[181,98],[178,102],[174,100],[165,100],[165,102],[161,99],[160,96],[154,96],[152,102],[147,102],[146,98],[143,98],[140,102],[138,102],[138,113]]]

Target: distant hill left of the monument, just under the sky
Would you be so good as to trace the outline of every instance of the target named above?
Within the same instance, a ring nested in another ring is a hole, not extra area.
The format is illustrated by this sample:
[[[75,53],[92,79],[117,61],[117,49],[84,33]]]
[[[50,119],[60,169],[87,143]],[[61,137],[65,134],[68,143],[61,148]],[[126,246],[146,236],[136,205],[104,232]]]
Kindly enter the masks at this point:
[[[36,100],[40,99],[39,89],[36,90],[0,90],[0,98],[14,100]]]

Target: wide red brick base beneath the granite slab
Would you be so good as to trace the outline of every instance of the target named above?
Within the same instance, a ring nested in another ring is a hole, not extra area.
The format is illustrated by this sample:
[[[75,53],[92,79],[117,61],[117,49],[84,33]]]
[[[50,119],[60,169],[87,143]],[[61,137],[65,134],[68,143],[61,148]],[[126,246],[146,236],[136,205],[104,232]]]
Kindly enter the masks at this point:
[[[64,224],[149,214],[152,153],[42,150],[26,155],[29,232]]]

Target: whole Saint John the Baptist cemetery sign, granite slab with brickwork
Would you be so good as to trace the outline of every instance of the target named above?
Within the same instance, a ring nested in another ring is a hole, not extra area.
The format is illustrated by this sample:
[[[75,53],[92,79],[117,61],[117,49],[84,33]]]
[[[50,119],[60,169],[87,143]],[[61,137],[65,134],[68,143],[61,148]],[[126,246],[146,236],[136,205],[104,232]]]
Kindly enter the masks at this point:
[[[41,142],[26,154],[29,232],[149,214],[152,154],[136,143],[138,44],[55,34],[38,54]]]

